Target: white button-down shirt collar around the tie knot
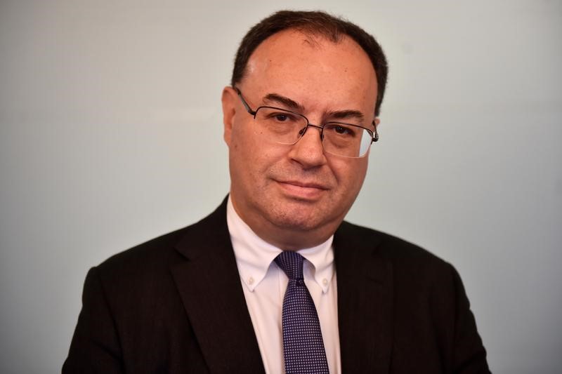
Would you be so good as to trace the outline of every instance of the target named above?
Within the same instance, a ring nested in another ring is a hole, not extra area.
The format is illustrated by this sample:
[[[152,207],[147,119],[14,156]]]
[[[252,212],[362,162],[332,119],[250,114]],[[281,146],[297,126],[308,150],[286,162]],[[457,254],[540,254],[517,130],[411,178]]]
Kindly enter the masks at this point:
[[[233,243],[238,272],[244,284],[253,292],[265,278],[271,262],[282,250],[264,241],[252,231],[236,213],[230,195],[226,206],[226,222],[230,232],[230,241]],[[318,246],[297,251],[307,260],[304,271],[307,272],[306,267],[308,266],[310,274],[313,274],[315,282],[322,288],[323,293],[327,292],[334,276],[333,240],[332,235]]]

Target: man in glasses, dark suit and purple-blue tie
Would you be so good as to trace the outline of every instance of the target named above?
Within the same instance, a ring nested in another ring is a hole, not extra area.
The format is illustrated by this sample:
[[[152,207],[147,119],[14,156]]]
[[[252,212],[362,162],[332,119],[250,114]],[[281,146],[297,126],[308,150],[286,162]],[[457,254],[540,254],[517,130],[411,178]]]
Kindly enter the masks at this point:
[[[386,59],[359,27],[278,12],[222,95],[230,194],[90,270],[65,373],[488,373],[455,269],[343,222]]]

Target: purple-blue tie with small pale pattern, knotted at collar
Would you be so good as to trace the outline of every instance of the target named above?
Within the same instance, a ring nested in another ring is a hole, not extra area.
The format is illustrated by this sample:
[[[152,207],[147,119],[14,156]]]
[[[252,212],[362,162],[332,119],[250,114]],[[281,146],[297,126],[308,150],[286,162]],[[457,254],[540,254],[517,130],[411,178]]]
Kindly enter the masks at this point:
[[[316,307],[303,279],[303,257],[282,252],[275,263],[289,277],[283,299],[285,373],[329,374]]]

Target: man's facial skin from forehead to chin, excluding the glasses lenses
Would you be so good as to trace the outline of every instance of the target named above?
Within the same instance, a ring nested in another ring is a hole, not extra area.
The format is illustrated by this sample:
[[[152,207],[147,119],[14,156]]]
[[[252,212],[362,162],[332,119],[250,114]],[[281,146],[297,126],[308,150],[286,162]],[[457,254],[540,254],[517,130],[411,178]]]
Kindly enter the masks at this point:
[[[334,44],[285,30],[251,55],[237,85],[251,109],[284,109],[298,103],[311,123],[345,121],[334,112],[358,111],[372,128],[377,78],[358,44],[347,36]],[[256,133],[254,119],[236,92],[223,91],[224,138],[229,147],[230,196],[238,215],[262,239],[285,250],[318,245],[331,236],[359,193],[367,156],[327,154],[320,129],[309,127],[295,145],[279,145]]]

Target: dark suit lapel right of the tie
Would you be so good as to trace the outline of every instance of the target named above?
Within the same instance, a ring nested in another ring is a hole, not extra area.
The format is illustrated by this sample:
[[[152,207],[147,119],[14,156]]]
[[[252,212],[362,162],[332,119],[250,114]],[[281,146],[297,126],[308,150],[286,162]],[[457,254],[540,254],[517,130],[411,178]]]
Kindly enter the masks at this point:
[[[392,347],[392,264],[378,239],[342,223],[334,235],[343,373],[388,373]]]

